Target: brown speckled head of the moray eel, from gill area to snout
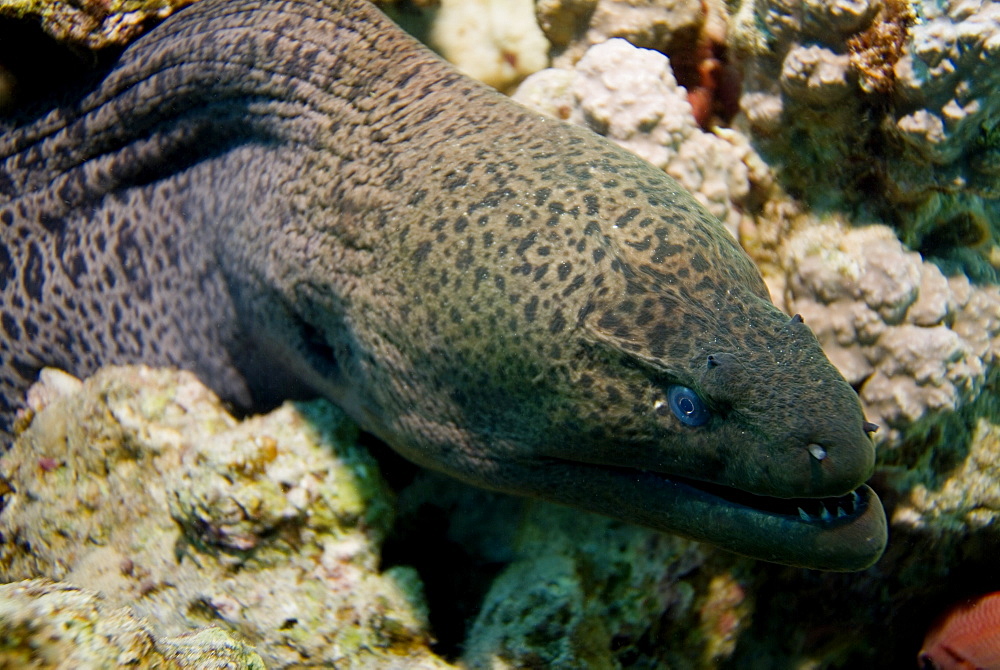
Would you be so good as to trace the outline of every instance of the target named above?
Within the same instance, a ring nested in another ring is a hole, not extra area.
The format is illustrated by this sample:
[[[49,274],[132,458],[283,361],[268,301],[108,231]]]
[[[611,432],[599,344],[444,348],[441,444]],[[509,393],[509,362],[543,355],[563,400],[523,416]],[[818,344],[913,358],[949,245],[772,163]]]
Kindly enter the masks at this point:
[[[768,561],[874,563],[872,427],[812,331],[662,171],[510,104],[413,152],[413,196],[369,226],[397,231],[384,262],[329,291],[349,309],[289,301],[320,300],[303,320],[337,363],[317,387],[477,486]]]

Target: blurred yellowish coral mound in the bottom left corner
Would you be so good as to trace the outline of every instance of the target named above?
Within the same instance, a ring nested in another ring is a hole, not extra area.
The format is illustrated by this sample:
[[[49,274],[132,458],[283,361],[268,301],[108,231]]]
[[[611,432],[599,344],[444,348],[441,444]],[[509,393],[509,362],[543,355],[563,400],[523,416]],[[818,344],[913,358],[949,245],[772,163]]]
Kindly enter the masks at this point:
[[[251,647],[220,628],[157,636],[127,607],[46,579],[0,585],[0,667],[264,670]]]

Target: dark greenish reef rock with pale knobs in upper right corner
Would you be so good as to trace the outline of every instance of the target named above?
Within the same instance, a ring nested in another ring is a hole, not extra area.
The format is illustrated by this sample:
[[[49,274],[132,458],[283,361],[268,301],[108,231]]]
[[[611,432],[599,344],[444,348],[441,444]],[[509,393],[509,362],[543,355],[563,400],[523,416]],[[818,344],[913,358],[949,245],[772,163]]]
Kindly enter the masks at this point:
[[[755,146],[793,196],[997,275],[1000,5],[743,0],[730,27]]]

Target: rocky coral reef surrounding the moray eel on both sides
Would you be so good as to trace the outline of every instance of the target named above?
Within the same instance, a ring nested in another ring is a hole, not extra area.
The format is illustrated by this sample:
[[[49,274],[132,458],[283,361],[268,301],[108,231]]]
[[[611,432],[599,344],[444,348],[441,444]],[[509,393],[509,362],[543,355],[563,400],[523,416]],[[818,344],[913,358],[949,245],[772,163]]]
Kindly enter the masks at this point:
[[[373,458],[323,402],[240,423],[183,373],[52,372],[0,459],[0,666],[914,667],[1000,590],[1000,4],[491,7],[397,13],[726,223],[880,425],[885,557],[757,563]]]

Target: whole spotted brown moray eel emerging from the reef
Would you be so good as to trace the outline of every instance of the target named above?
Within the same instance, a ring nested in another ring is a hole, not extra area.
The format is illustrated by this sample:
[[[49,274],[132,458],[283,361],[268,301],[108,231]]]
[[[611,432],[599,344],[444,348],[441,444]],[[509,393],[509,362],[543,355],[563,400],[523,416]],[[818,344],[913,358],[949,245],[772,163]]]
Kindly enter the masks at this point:
[[[0,135],[0,415],[42,366],[321,394],[416,463],[871,565],[854,390],[661,171],[359,0],[206,0]]]

